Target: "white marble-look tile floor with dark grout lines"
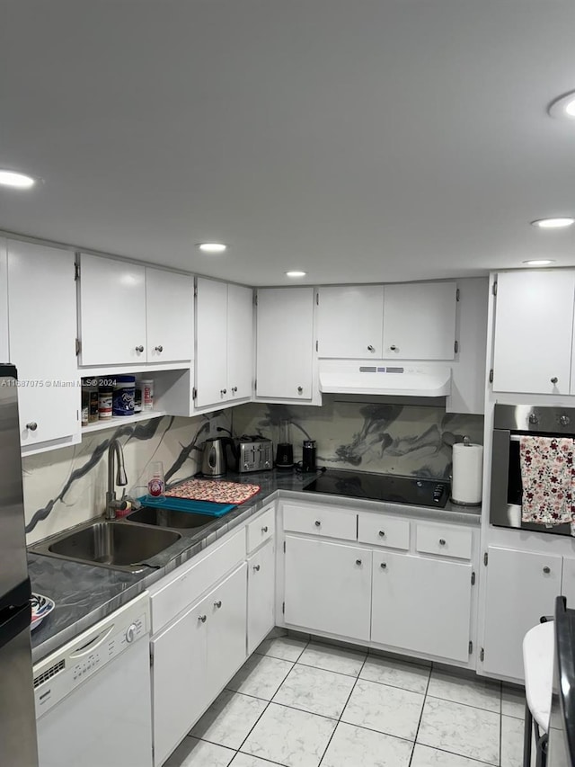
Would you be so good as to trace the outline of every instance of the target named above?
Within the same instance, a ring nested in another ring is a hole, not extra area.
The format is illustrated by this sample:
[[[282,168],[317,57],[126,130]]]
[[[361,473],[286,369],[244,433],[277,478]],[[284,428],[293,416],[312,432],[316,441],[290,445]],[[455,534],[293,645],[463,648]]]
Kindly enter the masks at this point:
[[[520,767],[524,705],[498,682],[269,638],[165,767]]]

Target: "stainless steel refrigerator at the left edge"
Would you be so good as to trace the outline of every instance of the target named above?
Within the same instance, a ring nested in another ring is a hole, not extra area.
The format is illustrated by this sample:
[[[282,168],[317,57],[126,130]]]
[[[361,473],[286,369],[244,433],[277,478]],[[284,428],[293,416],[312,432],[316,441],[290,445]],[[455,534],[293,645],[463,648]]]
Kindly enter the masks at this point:
[[[16,380],[0,363],[0,764],[37,767]]]

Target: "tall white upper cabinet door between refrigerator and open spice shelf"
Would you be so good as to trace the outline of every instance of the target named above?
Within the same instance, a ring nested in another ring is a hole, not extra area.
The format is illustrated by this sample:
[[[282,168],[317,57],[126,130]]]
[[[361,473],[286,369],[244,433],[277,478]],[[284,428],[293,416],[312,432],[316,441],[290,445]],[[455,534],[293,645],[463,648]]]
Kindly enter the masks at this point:
[[[8,242],[10,361],[22,381],[23,448],[80,430],[74,272],[69,251]]]

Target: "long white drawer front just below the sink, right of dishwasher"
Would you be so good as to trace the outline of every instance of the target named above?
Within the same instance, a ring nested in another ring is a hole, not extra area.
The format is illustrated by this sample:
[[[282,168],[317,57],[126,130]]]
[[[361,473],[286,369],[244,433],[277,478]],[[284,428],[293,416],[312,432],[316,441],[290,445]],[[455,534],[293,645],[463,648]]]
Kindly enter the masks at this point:
[[[234,536],[207,554],[199,554],[199,561],[190,560],[178,567],[164,581],[150,589],[152,633],[156,634],[178,613],[195,602],[211,586],[217,584],[245,557],[245,533],[238,530]]]

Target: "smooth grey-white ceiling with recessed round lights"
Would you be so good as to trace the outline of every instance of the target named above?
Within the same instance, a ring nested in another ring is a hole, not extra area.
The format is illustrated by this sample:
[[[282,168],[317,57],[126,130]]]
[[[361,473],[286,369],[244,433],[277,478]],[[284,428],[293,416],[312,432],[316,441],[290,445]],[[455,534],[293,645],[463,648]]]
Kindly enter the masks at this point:
[[[572,0],[19,0],[0,228],[252,285],[575,264]],[[225,242],[226,254],[195,244]]]

